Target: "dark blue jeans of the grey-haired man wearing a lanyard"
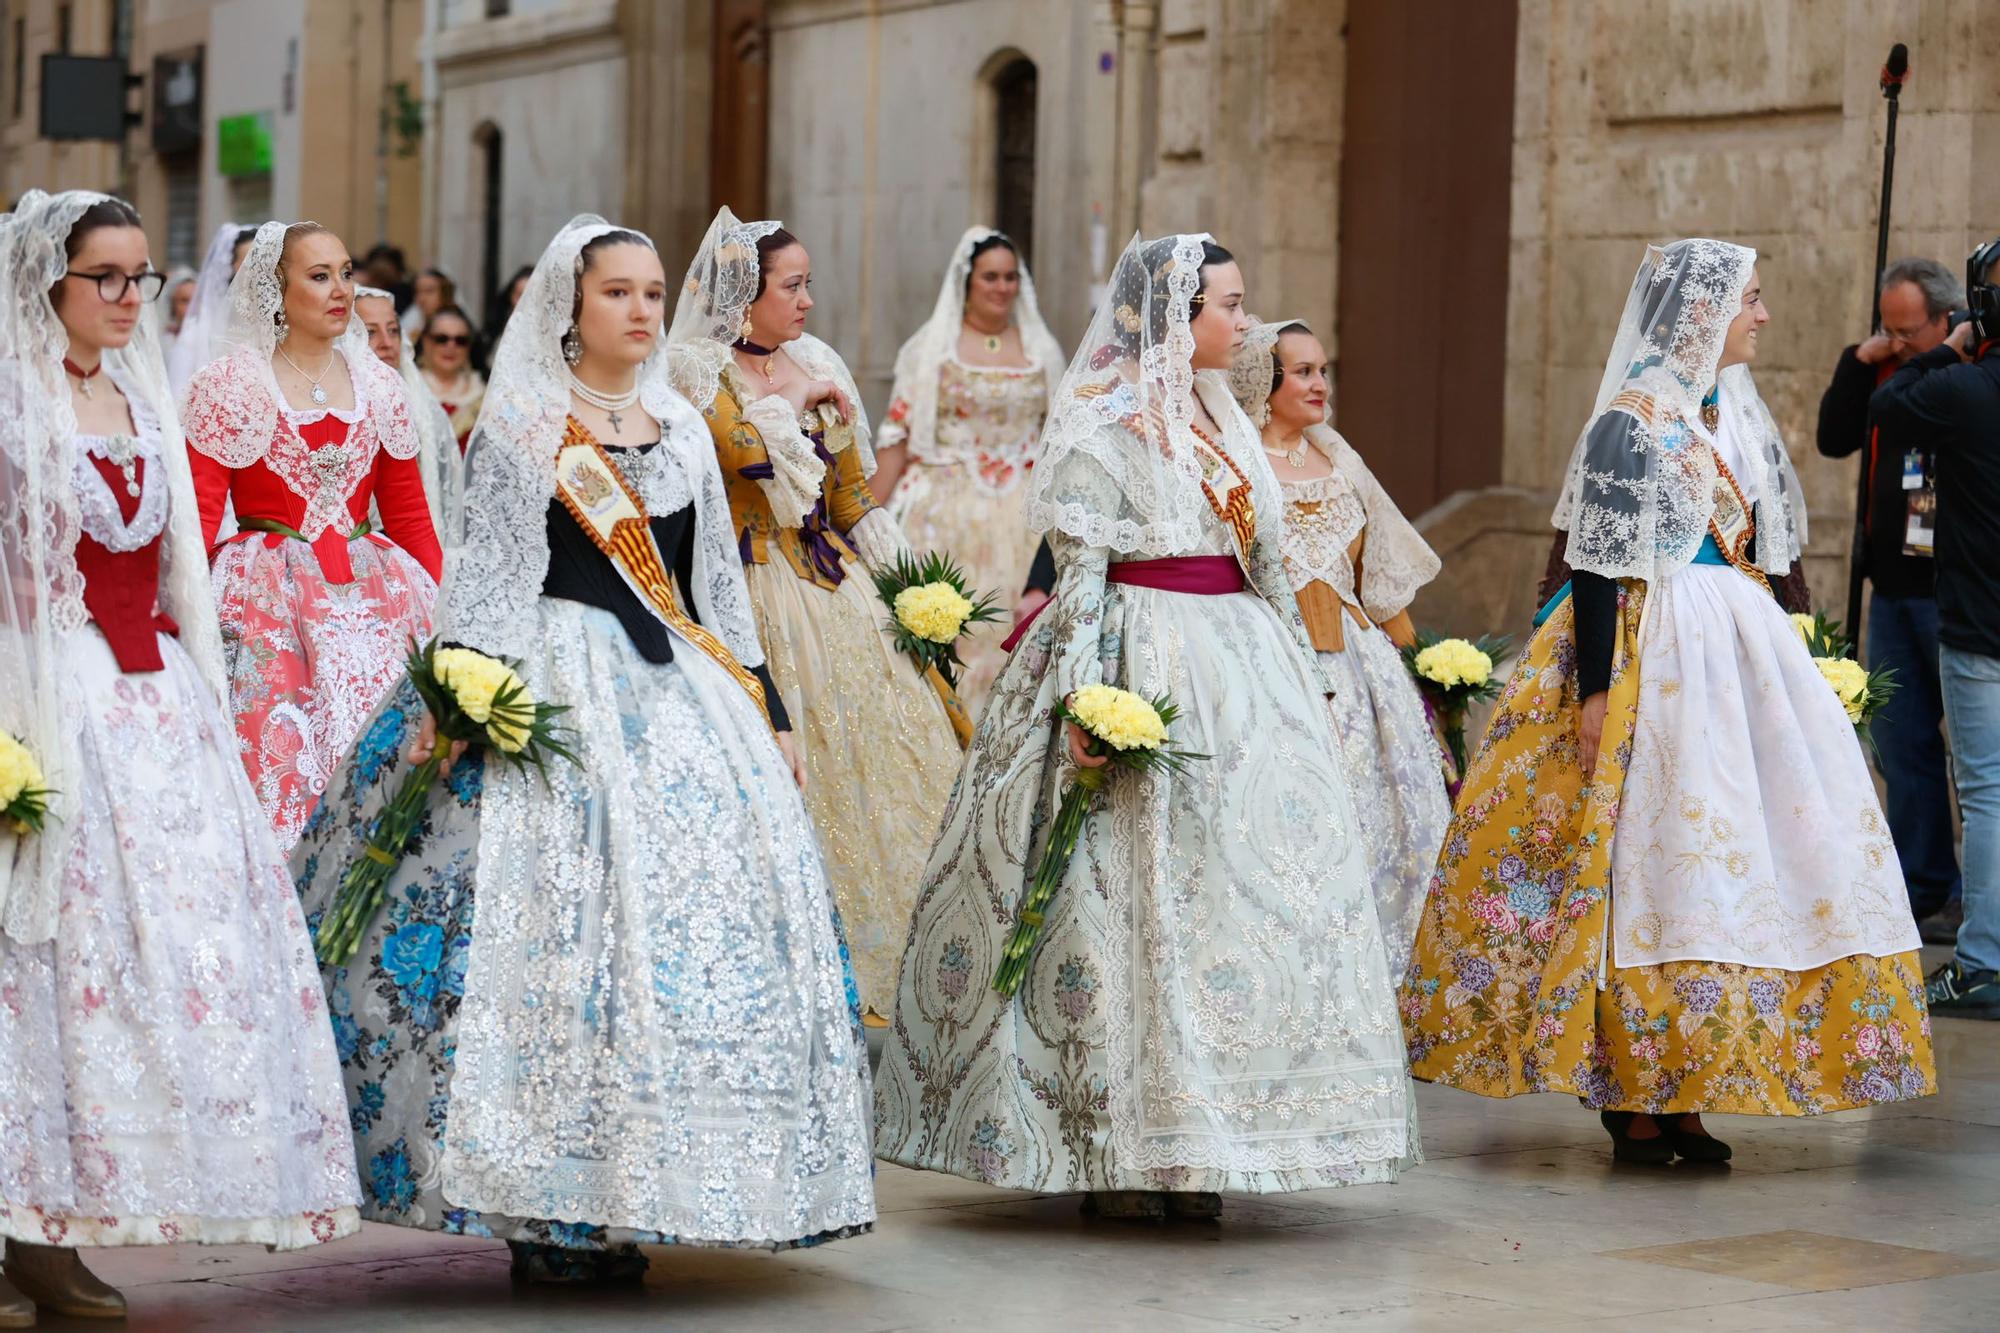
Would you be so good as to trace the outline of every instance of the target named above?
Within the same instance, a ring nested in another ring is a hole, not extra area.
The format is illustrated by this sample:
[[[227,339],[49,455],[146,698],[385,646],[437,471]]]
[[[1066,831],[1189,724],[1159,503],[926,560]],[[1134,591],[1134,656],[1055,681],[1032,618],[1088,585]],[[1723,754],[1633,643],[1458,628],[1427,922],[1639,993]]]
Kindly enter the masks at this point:
[[[1896,839],[1910,913],[1930,917],[1960,893],[1952,789],[1944,753],[1944,695],[1938,687],[1938,602],[1928,596],[1868,600],[1868,669],[1896,673],[1868,735],[1888,787],[1888,831]]]

